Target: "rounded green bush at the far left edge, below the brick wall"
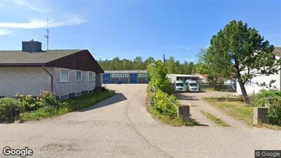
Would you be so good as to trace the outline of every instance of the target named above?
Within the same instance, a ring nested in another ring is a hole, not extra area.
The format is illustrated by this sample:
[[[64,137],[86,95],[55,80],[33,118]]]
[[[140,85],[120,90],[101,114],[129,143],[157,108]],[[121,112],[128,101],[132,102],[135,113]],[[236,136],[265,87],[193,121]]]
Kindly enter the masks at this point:
[[[13,98],[0,98],[0,121],[14,120],[24,110]]]

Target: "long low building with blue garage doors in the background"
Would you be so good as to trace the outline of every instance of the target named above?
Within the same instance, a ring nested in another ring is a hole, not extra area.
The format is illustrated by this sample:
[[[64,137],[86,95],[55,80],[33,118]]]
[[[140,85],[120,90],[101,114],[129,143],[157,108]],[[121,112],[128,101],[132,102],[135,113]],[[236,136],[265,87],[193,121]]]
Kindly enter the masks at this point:
[[[148,83],[147,70],[109,70],[103,73],[103,83]]]

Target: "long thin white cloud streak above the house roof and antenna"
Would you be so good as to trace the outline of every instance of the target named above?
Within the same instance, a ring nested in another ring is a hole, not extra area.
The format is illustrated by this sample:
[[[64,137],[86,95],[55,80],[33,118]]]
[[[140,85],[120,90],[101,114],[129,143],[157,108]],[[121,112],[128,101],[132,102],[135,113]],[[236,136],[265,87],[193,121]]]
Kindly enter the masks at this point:
[[[60,27],[60,26],[69,26],[69,25],[79,25],[85,21],[78,16],[68,18],[64,21],[49,21],[49,27]],[[40,29],[46,28],[46,21],[32,20],[28,23],[0,23],[0,27],[5,28],[17,28],[17,29]]]

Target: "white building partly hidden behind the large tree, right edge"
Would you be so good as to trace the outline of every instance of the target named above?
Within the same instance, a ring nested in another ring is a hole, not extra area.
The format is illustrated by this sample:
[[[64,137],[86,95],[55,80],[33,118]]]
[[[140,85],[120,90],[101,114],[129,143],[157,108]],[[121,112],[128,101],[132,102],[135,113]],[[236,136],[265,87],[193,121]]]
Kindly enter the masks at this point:
[[[275,47],[273,53],[274,53],[274,55],[276,55],[277,60],[280,59],[281,47]],[[280,68],[280,66],[279,66],[279,68]],[[260,86],[260,85],[257,85],[256,82],[258,82],[258,83],[265,82],[266,84],[268,84],[272,79],[276,80],[276,81],[271,84],[271,88],[274,87],[274,88],[277,88],[278,90],[281,90],[281,70],[279,70],[279,73],[275,74],[275,75],[269,75],[269,76],[264,75],[264,76],[259,76],[259,77],[253,77],[252,79],[250,79],[250,81],[245,83],[245,90],[246,90],[247,94],[253,94],[253,93],[257,93],[263,89],[269,89],[269,86]],[[237,94],[242,94],[238,81],[237,81]]]

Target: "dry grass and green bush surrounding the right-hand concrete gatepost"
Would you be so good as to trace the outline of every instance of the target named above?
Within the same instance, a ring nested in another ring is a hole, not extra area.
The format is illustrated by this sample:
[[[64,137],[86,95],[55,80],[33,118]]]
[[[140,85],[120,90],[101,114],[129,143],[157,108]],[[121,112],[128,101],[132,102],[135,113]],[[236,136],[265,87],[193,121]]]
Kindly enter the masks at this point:
[[[269,96],[271,98],[269,99]],[[267,127],[270,129],[281,129],[281,95],[278,90],[261,90],[257,94],[250,95],[250,105],[245,103],[241,97],[220,97],[204,98],[211,105],[222,109],[226,114],[243,120],[247,124],[254,126],[254,107],[268,106],[267,116],[270,124],[258,124],[257,127]],[[256,125],[255,125],[256,126]]]

